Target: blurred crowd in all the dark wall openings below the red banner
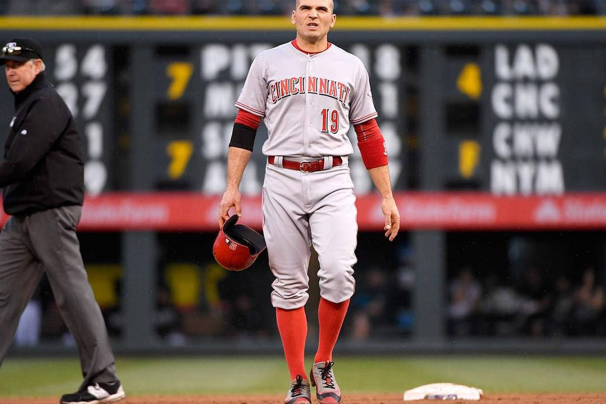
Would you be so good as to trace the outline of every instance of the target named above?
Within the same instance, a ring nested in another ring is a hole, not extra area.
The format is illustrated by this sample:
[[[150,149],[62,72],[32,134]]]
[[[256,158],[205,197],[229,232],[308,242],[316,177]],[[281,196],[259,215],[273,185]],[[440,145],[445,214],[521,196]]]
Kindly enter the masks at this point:
[[[415,331],[416,273],[423,268],[415,263],[407,242],[400,243],[394,254],[381,250],[376,239],[365,234],[362,243],[367,248],[359,250],[356,293],[343,329],[345,339],[351,341],[406,339]],[[241,273],[223,270],[211,257],[196,259],[184,253],[184,260],[165,258],[158,268],[154,323],[167,345],[263,341],[277,335],[267,304],[271,274],[265,257]],[[119,268],[92,265],[87,270],[108,331],[119,337],[124,321]],[[546,268],[514,262],[502,271],[471,258],[447,276],[446,334],[451,338],[606,336],[605,275],[598,267]],[[310,298],[318,299],[316,295],[318,290],[310,290]],[[309,314],[313,328],[314,313]],[[44,280],[25,310],[16,343],[38,345],[41,339],[57,338],[73,343]]]

